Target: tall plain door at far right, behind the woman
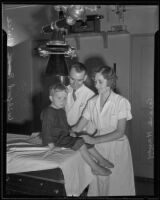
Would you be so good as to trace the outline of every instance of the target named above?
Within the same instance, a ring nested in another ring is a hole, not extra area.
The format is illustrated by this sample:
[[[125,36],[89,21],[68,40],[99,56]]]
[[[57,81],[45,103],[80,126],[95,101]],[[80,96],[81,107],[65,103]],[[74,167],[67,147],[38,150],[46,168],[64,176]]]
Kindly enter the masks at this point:
[[[154,36],[132,37],[131,148],[135,176],[153,178]]]

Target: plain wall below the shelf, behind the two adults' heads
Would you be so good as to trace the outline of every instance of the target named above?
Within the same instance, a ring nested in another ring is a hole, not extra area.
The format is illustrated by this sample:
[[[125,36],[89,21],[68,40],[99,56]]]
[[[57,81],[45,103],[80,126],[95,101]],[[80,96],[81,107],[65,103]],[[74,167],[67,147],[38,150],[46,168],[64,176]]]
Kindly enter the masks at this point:
[[[76,46],[74,38],[67,41]],[[79,61],[85,63],[89,71],[102,65],[113,67],[116,63],[117,88],[129,98],[130,35],[109,35],[107,43],[107,48],[104,48],[103,38],[99,35],[80,38]]]

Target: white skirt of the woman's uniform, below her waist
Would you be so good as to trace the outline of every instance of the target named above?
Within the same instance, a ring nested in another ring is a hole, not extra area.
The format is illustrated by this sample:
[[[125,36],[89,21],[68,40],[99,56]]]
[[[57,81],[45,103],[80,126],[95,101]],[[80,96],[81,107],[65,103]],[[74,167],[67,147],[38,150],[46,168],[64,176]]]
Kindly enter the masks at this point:
[[[133,165],[128,139],[98,144],[96,149],[114,163],[110,176],[97,176],[90,184],[88,196],[135,195]]]

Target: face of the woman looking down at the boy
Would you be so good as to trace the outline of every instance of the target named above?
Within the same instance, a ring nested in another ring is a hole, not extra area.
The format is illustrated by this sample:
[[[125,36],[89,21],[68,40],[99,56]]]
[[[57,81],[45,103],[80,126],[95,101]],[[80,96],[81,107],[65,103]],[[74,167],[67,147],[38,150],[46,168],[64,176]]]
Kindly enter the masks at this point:
[[[96,73],[94,84],[99,94],[105,93],[108,90],[108,81],[104,79],[101,73]]]

